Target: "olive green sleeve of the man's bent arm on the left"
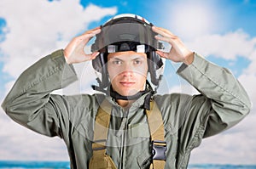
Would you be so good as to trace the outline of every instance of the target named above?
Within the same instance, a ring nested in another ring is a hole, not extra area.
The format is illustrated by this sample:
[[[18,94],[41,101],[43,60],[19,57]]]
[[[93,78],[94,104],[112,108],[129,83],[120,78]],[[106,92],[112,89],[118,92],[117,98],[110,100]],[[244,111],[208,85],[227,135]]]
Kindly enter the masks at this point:
[[[25,70],[2,104],[14,121],[50,137],[61,137],[60,124],[68,124],[64,97],[50,93],[77,80],[63,56],[63,50],[55,51]]]

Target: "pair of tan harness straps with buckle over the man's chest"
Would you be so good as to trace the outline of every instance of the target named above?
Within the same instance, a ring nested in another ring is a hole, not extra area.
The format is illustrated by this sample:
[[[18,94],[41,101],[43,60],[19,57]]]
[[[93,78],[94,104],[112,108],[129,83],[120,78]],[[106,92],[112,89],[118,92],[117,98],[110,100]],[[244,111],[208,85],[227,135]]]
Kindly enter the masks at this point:
[[[93,156],[92,159],[98,161],[96,164],[90,161],[94,167],[89,168],[114,168],[113,161],[110,156],[106,154],[106,142],[108,138],[108,126],[111,117],[112,106],[108,103],[107,99],[104,99],[100,105],[96,114],[96,122],[94,128],[94,142],[92,143]],[[148,126],[152,140],[152,154],[153,163],[150,165],[150,169],[164,169],[166,164],[166,142],[165,142],[165,129],[162,120],[162,115],[158,106],[154,100],[150,101],[150,110],[146,110],[148,117]],[[108,162],[100,162],[102,159],[108,158],[111,161],[112,167]],[[95,167],[100,165],[101,167]]]

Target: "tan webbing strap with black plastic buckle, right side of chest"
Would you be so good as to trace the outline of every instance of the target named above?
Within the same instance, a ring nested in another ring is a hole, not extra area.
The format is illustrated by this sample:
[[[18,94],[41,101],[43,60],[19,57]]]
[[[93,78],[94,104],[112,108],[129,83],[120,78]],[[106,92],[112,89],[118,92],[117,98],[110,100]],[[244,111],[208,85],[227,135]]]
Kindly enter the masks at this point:
[[[166,142],[165,142],[165,129],[164,122],[162,120],[162,115],[158,106],[154,101],[150,101],[150,110],[146,110],[148,116],[148,125],[151,133],[153,150],[154,147],[159,148],[161,153],[165,156]],[[159,155],[162,157],[163,155]],[[155,156],[155,155],[154,155]],[[166,165],[166,159],[153,158],[153,163],[150,169],[163,169]]]

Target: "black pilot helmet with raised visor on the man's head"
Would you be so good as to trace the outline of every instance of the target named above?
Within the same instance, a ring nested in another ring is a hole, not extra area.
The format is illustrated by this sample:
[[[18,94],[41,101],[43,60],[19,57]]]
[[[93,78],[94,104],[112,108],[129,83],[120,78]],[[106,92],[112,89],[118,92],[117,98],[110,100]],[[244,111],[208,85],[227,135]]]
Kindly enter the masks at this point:
[[[157,34],[152,31],[153,24],[136,14],[119,14],[101,25],[101,33],[96,35],[95,42],[91,45],[91,52],[99,51],[100,54],[92,60],[93,68],[102,74],[101,80],[97,78],[99,88],[109,86],[107,61],[108,54],[121,51],[136,51],[145,53],[149,60],[148,72],[150,81],[154,86],[159,85],[160,76],[156,71],[163,67],[163,61],[157,49],[164,45],[156,40]]]

